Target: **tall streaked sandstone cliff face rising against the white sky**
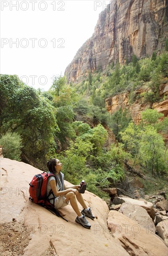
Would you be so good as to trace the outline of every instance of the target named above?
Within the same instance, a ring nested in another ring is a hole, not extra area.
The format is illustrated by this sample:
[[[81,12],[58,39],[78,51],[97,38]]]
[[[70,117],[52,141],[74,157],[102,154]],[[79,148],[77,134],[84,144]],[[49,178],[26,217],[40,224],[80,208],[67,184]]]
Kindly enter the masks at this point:
[[[66,68],[68,81],[119,60],[150,56],[168,37],[167,0],[112,0],[99,15],[94,34]]]

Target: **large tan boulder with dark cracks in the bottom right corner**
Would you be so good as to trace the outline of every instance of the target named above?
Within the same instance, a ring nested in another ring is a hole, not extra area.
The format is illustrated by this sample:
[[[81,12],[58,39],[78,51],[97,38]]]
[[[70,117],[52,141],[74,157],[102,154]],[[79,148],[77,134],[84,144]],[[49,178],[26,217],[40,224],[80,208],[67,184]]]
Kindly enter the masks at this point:
[[[108,228],[131,256],[168,256],[167,246],[155,233],[118,211],[109,212]]]

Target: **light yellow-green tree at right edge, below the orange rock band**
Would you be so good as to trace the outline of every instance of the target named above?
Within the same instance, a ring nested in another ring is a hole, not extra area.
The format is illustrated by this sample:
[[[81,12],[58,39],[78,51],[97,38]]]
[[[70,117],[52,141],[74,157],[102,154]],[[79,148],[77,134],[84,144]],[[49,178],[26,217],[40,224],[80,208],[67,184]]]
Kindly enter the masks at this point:
[[[121,138],[134,163],[141,163],[152,175],[164,175],[168,171],[168,152],[162,136],[152,126],[158,120],[158,115],[152,111],[154,113],[144,111],[146,126],[141,128],[130,122],[128,128],[121,132]],[[150,113],[153,118],[149,120]]]

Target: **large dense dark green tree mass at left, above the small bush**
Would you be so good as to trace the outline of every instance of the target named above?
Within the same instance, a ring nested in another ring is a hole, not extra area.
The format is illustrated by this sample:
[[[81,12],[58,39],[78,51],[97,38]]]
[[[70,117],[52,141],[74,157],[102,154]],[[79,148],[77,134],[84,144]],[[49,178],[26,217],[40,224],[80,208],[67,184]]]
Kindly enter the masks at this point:
[[[8,85],[8,78],[4,83]],[[13,81],[15,77],[13,78]],[[15,88],[15,90],[14,90]],[[7,98],[6,98],[7,95]],[[46,166],[50,154],[56,149],[54,132],[58,130],[56,111],[47,98],[27,85],[13,82],[13,93],[4,94],[6,105],[2,109],[1,133],[17,132],[22,138],[22,158],[33,164],[40,163],[40,168]],[[41,155],[43,156],[41,158]]]

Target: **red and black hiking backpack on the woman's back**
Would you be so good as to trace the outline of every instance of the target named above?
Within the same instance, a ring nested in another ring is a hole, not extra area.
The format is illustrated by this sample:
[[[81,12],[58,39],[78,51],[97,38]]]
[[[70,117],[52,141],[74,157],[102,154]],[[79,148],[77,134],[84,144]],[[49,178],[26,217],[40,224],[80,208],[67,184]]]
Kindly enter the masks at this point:
[[[54,199],[54,193],[52,189],[50,190],[48,196],[47,196],[47,180],[49,176],[55,176],[54,174],[48,174],[46,172],[43,172],[41,174],[34,175],[32,181],[29,183],[29,200],[31,200],[34,203],[40,204],[41,206],[45,207],[46,209],[50,210],[52,213],[58,217],[61,217],[64,219],[60,213],[54,208],[54,204],[51,204],[49,202],[48,197],[53,194],[53,197],[51,199]],[[55,177],[56,179],[56,177]],[[50,199],[50,200],[51,200]],[[64,219],[66,220],[66,219]],[[67,220],[66,220],[67,221]]]

